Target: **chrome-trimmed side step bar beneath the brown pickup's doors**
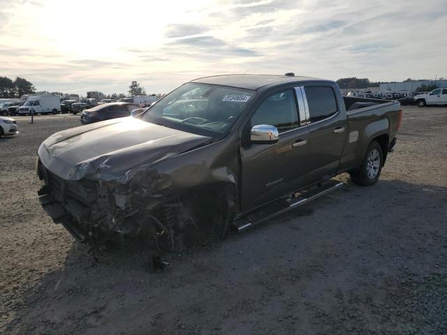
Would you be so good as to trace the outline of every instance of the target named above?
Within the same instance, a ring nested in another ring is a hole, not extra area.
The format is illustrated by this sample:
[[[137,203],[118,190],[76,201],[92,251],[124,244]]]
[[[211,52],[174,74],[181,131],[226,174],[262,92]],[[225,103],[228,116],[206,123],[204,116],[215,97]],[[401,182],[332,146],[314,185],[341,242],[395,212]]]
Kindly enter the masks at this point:
[[[330,180],[323,186],[314,186],[305,191],[295,193],[295,195],[291,196],[288,199],[274,201],[263,207],[263,209],[259,209],[258,211],[254,211],[251,214],[242,216],[242,218],[238,218],[235,221],[234,225],[237,232],[241,232],[242,230],[250,228],[254,224],[261,223],[270,218],[274,218],[274,216],[286,213],[286,211],[290,211],[291,209],[300,207],[303,204],[307,204],[307,202],[320,198],[321,196],[326,195],[332,191],[335,191],[338,188],[341,188],[343,185],[344,184],[339,181]]]

